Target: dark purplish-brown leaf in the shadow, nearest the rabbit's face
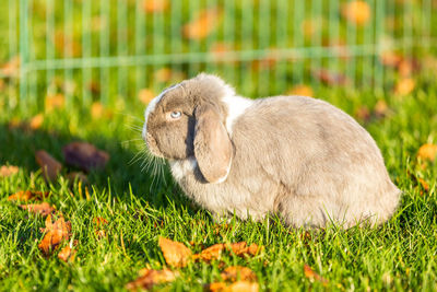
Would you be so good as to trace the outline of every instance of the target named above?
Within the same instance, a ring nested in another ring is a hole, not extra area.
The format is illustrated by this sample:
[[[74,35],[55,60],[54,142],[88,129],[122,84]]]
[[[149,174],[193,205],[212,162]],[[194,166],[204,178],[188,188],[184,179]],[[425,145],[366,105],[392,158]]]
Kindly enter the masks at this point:
[[[86,142],[72,142],[62,149],[66,163],[90,172],[92,168],[103,168],[109,160],[109,154]]]

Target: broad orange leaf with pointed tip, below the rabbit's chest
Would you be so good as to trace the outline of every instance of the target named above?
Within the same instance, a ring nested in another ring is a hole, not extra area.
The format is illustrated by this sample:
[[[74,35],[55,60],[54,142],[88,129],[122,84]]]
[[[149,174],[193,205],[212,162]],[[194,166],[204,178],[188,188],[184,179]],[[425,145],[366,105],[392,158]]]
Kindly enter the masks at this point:
[[[185,267],[191,259],[191,250],[181,243],[160,236],[158,245],[163,252],[165,261],[172,267]]]

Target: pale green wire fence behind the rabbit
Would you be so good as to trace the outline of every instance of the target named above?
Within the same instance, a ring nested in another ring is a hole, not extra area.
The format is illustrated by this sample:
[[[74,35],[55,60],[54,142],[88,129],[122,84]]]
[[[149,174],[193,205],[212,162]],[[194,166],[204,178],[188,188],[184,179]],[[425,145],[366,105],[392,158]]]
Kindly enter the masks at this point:
[[[435,49],[434,0],[1,0],[10,107],[149,98],[200,71],[243,94],[383,90],[402,58]],[[146,91],[144,91],[146,89]],[[141,96],[140,96],[141,97]]]

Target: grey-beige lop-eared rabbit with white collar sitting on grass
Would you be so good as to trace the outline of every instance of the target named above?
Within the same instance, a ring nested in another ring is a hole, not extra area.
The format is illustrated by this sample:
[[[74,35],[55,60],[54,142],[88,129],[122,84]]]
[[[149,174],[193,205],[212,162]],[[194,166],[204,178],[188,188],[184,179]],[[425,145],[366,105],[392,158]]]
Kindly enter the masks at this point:
[[[221,78],[200,73],[147,105],[142,137],[168,161],[185,194],[214,217],[292,227],[378,225],[397,210],[370,135],[321,100],[238,96]]]

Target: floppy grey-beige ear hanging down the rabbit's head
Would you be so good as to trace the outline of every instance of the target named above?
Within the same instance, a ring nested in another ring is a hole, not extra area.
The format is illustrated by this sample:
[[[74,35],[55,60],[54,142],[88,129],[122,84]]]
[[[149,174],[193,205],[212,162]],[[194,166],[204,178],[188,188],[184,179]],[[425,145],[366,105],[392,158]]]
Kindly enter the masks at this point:
[[[212,104],[198,106],[194,155],[208,183],[221,183],[231,170],[233,147],[218,109]]]

